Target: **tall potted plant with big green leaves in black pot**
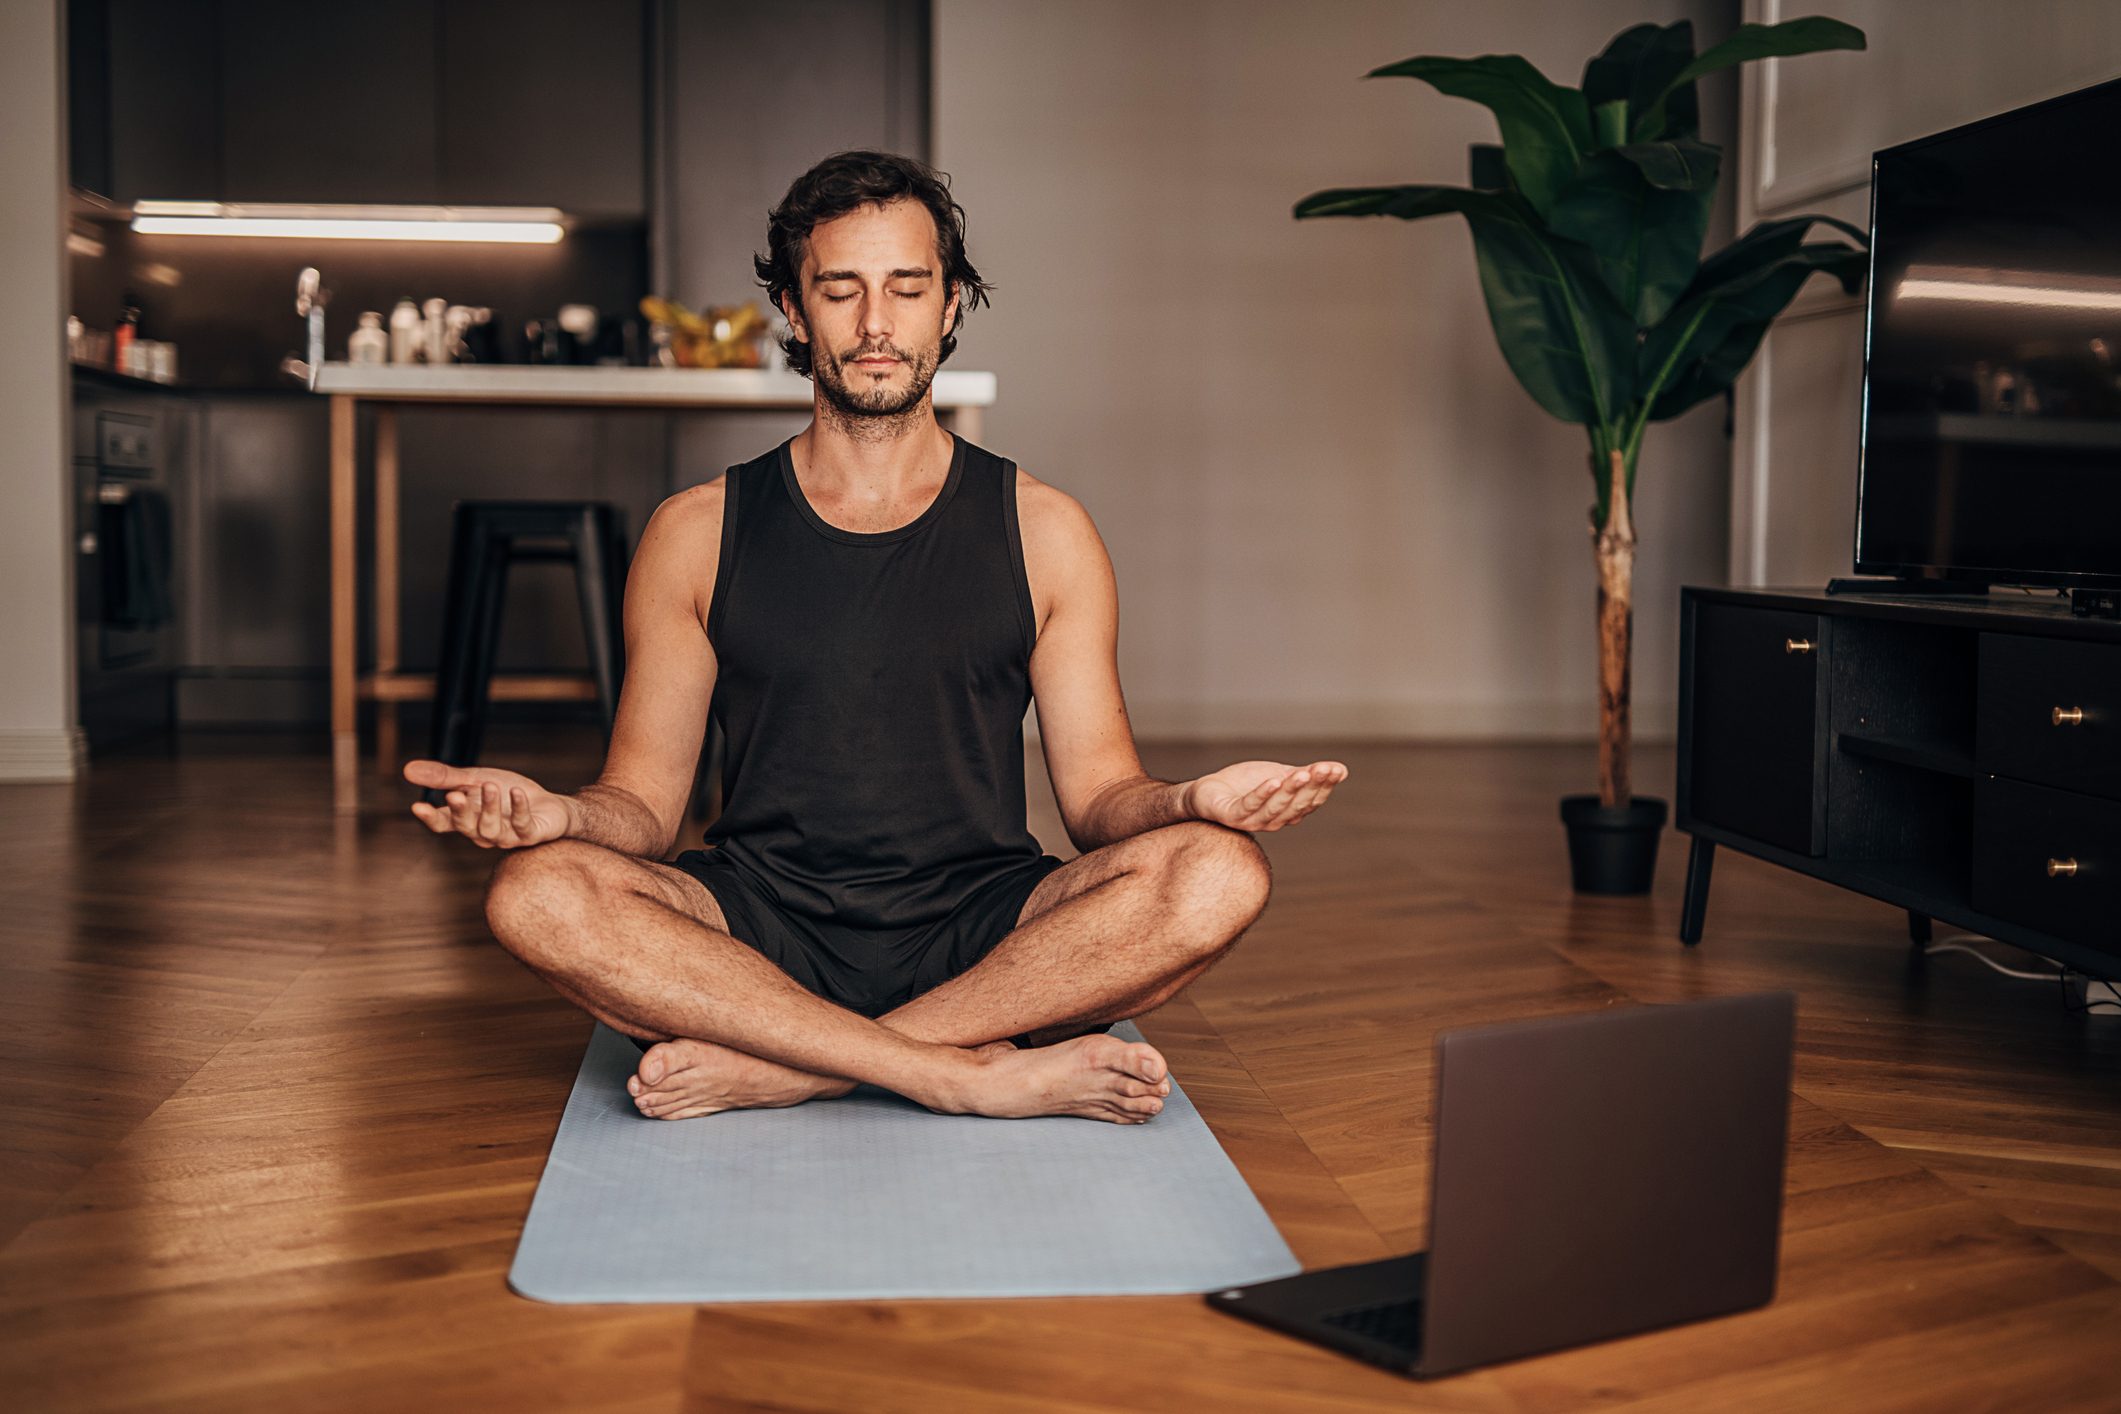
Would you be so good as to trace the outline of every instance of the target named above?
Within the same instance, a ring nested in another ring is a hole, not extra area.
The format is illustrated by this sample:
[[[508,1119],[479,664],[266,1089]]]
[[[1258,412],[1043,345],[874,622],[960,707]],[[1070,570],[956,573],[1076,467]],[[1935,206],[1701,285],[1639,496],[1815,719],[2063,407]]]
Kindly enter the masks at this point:
[[[1591,439],[1597,560],[1599,791],[1561,818],[1582,892],[1644,892],[1665,801],[1629,789],[1635,460],[1650,422],[1731,386],[1767,326],[1813,271],[1862,286],[1864,233],[1833,216],[1763,220],[1701,257],[1722,151],[1701,142],[1695,78],[1822,49],[1862,49],[1862,30],[1805,17],[1739,25],[1695,55],[1688,21],[1623,30],[1582,87],[1519,55],[1415,57],[1366,78],[1421,78],[1493,110],[1500,144],[1474,144],[1468,187],[1336,187],[1296,216],[1466,216],[1502,356],[1525,392]],[[1807,242],[1824,223],[1856,244]]]

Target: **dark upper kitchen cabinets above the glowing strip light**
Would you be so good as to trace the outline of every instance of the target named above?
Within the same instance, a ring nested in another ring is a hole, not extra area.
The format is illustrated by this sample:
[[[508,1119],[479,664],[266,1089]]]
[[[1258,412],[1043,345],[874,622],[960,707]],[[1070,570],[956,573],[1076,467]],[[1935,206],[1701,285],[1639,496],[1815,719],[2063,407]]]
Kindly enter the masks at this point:
[[[647,212],[645,0],[72,0],[70,174],[138,201]]]

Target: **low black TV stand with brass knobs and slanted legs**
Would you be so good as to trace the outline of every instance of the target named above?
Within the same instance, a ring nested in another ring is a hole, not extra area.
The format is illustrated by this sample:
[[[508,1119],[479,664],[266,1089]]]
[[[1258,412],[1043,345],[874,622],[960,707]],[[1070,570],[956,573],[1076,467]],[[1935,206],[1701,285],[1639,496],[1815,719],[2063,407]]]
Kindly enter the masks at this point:
[[[1680,939],[1716,846],[2121,977],[2121,623],[2059,598],[1680,591]]]

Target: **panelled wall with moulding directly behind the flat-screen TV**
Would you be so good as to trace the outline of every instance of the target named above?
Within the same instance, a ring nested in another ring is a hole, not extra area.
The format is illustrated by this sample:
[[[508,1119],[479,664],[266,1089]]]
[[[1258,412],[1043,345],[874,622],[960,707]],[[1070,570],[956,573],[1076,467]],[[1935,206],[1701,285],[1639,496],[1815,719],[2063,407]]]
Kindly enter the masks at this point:
[[[1746,17],[1786,6],[1746,0]],[[1746,68],[1739,214],[1871,214],[1871,153],[2121,74],[2121,6],[1839,0],[1869,49]],[[2108,142],[2108,136],[2098,138]],[[1864,295],[1813,278],[1737,390],[1731,583],[1820,585],[1856,562]]]

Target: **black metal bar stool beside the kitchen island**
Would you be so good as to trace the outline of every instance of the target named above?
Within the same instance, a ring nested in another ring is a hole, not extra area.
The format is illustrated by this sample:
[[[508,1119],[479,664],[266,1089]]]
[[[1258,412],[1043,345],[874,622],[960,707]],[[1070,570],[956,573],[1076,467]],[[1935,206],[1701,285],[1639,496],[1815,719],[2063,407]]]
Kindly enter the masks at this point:
[[[501,602],[509,564],[566,560],[581,596],[581,630],[596,676],[604,742],[619,710],[626,674],[626,528],[604,500],[458,500],[450,534],[450,589],[443,604],[441,659],[435,664],[435,721],[428,755],[475,765],[486,736],[486,702],[501,642]],[[445,793],[426,789],[431,806]]]

